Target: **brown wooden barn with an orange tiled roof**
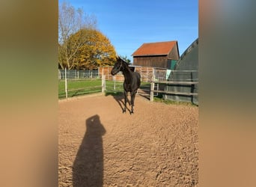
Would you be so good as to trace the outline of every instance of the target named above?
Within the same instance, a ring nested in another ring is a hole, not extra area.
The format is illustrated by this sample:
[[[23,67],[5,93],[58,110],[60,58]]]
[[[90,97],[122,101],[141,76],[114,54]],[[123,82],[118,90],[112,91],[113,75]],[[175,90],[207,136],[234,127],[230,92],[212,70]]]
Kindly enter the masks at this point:
[[[132,53],[133,64],[142,67],[172,69],[180,58],[177,41],[143,43]]]

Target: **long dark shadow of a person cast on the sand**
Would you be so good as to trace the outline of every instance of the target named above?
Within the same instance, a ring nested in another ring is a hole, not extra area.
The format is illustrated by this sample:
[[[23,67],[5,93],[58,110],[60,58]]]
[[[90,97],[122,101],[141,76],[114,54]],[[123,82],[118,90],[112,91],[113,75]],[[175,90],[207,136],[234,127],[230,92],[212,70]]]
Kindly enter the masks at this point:
[[[85,121],[86,132],[73,163],[73,186],[103,186],[103,138],[99,115]]]

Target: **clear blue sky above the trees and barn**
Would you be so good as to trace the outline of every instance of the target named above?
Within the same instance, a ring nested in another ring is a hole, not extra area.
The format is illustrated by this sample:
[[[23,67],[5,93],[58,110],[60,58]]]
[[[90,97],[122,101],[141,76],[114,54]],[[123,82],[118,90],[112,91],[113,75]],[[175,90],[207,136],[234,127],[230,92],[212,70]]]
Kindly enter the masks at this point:
[[[59,0],[62,2],[62,0]],[[118,55],[132,60],[142,43],[177,40],[180,55],[198,38],[198,0],[70,0],[97,17]]]

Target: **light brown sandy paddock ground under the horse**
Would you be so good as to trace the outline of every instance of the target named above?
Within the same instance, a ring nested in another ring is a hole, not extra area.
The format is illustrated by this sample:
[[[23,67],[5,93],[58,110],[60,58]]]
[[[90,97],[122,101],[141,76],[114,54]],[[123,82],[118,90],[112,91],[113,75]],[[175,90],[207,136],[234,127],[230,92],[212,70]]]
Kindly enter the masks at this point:
[[[111,95],[58,102],[59,186],[198,186],[198,107],[136,96],[130,115],[123,105]]]

